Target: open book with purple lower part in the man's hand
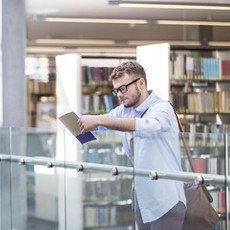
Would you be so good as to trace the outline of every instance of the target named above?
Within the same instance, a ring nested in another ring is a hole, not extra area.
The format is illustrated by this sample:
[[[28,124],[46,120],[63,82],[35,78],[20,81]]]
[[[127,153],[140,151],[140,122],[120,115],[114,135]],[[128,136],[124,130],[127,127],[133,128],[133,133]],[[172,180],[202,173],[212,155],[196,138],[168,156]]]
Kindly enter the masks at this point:
[[[81,133],[78,127],[79,117],[75,112],[69,112],[58,118],[69,131],[80,141],[81,144],[96,140],[96,137],[91,132]]]

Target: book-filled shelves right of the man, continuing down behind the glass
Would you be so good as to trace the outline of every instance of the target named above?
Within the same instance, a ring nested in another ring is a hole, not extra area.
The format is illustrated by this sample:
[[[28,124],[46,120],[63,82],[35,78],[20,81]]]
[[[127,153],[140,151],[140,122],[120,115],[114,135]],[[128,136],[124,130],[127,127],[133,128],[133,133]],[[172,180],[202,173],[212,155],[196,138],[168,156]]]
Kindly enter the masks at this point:
[[[172,51],[170,100],[181,116],[197,172],[225,175],[224,134],[230,130],[230,55],[225,51]],[[187,159],[184,159],[187,161]],[[184,165],[185,168],[186,164]],[[226,229],[228,190],[208,186]]]

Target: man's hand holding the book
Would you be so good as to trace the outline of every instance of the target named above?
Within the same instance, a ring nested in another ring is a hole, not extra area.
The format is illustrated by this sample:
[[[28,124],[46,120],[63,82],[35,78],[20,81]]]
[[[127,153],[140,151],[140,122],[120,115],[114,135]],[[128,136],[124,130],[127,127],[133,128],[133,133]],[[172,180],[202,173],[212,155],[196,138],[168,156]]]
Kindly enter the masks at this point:
[[[94,130],[99,125],[100,115],[83,115],[78,119],[78,125],[81,133]]]

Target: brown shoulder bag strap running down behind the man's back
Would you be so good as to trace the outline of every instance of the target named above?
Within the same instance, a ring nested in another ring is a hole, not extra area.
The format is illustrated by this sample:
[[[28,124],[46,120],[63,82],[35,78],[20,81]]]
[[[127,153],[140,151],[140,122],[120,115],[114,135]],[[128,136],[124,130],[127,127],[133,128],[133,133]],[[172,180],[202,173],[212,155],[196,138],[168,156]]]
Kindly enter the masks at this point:
[[[171,103],[170,103],[171,104]],[[173,108],[173,111],[175,113],[175,116],[176,116],[176,119],[177,119],[177,123],[178,123],[178,126],[179,126],[179,130],[181,132],[181,137],[182,137],[182,142],[183,142],[183,145],[184,145],[184,148],[185,148],[185,152],[188,156],[188,161],[189,161],[189,164],[190,164],[190,167],[191,167],[191,170],[192,172],[195,172],[195,166],[194,166],[194,163],[193,163],[193,159],[192,159],[192,154],[190,152],[190,149],[185,141],[185,137],[184,137],[184,130],[182,128],[182,125],[181,125],[181,122],[177,116],[177,113],[176,113],[176,110],[175,108],[173,107],[173,105],[171,104],[172,108]],[[208,201],[211,203],[213,202],[213,198],[210,194],[210,192],[208,191],[207,187],[204,185],[204,184],[201,184],[201,187],[203,189],[203,192],[205,194],[205,196],[207,197]]]

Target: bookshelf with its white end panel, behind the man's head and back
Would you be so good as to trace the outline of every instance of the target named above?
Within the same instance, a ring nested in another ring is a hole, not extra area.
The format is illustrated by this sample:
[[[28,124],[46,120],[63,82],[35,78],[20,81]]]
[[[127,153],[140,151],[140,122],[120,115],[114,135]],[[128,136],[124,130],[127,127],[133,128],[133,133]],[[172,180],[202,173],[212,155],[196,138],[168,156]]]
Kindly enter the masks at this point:
[[[230,52],[225,51],[176,50],[164,43],[137,47],[137,61],[146,70],[148,88],[176,108],[200,173],[226,173],[224,134],[230,128],[229,60]],[[190,171],[183,145],[181,154],[184,170]],[[220,215],[215,229],[226,229],[228,189],[208,189]]]

